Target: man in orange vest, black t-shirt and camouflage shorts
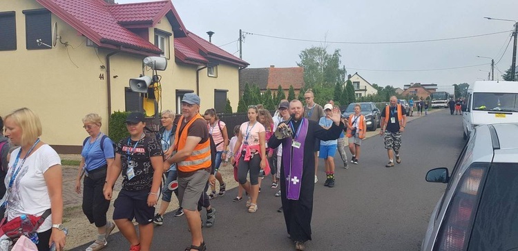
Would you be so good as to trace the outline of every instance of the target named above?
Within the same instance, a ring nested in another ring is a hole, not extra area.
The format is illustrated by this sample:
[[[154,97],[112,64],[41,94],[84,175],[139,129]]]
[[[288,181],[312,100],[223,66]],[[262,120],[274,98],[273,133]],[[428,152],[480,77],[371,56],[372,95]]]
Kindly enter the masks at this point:
[[[385,106],[381,112],[381,131],[385,141],[385,149],[389,157],[386,168],[394,166],[394,152],[396,153],[396,163],[401,163],[399,148],[401,148],[401,134],[407,124],[406,111],[403,106],[397,103],[396,96],[390,97],[390,106]],[[394,150],[394,152],[392,152]]]

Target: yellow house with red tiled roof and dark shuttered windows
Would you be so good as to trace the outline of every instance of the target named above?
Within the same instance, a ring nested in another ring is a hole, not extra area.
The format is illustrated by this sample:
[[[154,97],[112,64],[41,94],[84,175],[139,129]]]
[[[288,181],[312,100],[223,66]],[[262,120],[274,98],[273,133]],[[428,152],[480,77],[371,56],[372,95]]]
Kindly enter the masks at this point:
[[[200,95],[202,112],[223,110],[227,99],[237,108],[239,72],[249,66],[187,30],[171,0],[0,1],[0,57],[0,115],[35,110],[42,140],[61,153],[80,151],[81,118],[88,113],[100,114],[108,132],[113,112],[180,113],[188,92]],[[155,99],[128,86],[129,79],[153,77],[146,57],[167,62],[157,71]]]

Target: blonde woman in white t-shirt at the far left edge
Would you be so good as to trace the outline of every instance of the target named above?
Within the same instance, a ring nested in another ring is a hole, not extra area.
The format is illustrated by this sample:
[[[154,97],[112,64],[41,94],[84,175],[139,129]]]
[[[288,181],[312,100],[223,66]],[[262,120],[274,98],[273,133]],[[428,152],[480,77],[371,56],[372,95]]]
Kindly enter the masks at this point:
[[[57,250],[65,245],[63,232],[63,185],[61,159],[57,152],[39,140],[41,122],[28,108],[8,114],[5,119],[6,137],[20,146],[11,154],[6,176],[8,188],[7,220],[22,214],[41,216],[50,214],[37,229],[38,250],[49,250],[52,242]]]

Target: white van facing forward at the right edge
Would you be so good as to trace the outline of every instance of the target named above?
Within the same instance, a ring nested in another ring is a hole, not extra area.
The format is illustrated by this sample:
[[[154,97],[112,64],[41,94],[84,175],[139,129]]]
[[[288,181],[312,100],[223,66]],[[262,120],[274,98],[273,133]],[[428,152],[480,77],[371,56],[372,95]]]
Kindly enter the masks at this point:
[[[518,123],[518,82],[477,81],[468,88],[462,106],[464,139],[477,125]]]

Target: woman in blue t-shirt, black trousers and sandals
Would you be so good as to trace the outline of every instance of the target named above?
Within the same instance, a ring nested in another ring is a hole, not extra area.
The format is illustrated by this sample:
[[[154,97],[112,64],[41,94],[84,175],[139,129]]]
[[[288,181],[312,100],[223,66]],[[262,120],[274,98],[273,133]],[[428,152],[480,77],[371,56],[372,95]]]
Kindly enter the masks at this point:
[[[97,227],[97,239],[86,251],[96,251],[108,244],[106,239],[115,228],[115,223],[106,221],[110,201],[104,198],[102,192],[108,168],[111,168],[115,159],[115,149],[113,141],[101,132],[102,117],[99,114],[87,114],[82,121],[89,136],[83,141],[75,192],[81,192],[81,178],[84,174],[82,208],[90,224],[95,223]]]

